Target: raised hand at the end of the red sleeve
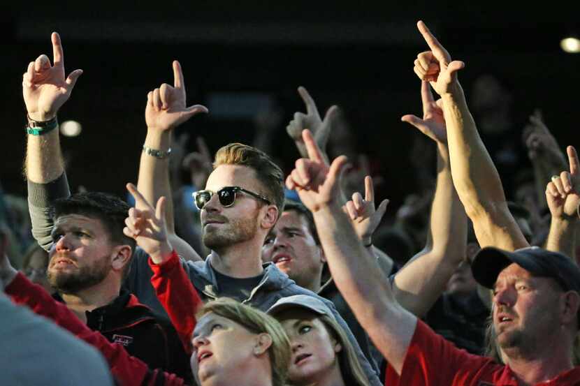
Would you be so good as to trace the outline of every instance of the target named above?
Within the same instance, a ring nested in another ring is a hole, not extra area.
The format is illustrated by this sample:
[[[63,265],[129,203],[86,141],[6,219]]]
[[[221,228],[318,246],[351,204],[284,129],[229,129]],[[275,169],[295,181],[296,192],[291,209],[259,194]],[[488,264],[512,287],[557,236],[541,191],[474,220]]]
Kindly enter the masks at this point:
[[[151,256],[155,264],[163,262],[173,251],[167,239],[167,225],[165,222],[166,198],[161,197],[156,207],[152,207],[133,184],[126,184],[127,191],[135,198],[136,207],[129,209],[129,216],[125,219],[123,233],[135,239],[137,245]]]

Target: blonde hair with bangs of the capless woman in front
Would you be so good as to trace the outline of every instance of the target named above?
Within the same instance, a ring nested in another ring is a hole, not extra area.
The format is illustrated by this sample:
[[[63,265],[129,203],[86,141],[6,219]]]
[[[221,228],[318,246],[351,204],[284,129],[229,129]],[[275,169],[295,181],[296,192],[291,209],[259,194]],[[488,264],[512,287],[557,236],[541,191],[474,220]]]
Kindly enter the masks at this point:
[[[272,384],[274,386],[286,385],[291,348],[290,340],[280,322],[258,309],[227,297],[205,304],[198,311],[198,320],[207,313],[215,313],[222,318],[232,320],[253,334],[268,334],[272,339],[272,345],[268,348],[272,367]]]

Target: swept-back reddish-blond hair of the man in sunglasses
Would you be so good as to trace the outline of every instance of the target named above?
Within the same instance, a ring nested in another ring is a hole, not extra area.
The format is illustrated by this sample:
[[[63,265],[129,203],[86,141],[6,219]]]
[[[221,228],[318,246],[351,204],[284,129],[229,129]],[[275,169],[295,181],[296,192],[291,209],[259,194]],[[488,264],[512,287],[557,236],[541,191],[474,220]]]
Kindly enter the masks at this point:
[[[215,154],[214,169],[219,165],[242,165],[256,172],[268,200],[276,205],[278,214],[284,209],[284,173],[263,151],[247,144],[231,143]],[[262,193],[262,192],[261,192]]]

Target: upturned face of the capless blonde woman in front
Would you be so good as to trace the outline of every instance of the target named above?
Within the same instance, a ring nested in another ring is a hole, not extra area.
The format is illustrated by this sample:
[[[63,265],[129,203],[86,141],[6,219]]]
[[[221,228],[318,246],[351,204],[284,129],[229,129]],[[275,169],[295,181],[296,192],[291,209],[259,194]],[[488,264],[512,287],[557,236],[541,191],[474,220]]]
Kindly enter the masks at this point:
[[[235,385],[252,371],[257,335],[232,320],[207,313],[196,324],[191,371],[202,386]]]

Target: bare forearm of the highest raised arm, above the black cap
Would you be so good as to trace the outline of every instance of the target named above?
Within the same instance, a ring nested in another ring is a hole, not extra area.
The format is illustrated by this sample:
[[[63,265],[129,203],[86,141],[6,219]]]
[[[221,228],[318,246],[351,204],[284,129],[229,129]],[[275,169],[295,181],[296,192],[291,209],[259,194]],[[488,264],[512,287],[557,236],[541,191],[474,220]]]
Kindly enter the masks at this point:
[[[507,209],[498,170],[479,138],[461,85],[456,82],[453,91],[442,99],[451,174],[480,246],[493,245],[512,251],[528,246]]]

